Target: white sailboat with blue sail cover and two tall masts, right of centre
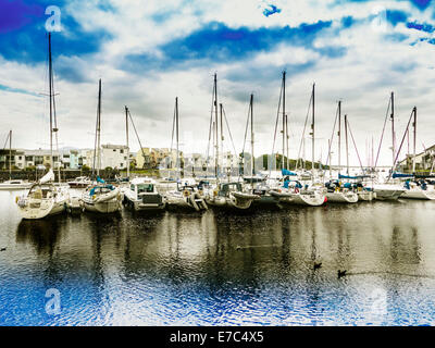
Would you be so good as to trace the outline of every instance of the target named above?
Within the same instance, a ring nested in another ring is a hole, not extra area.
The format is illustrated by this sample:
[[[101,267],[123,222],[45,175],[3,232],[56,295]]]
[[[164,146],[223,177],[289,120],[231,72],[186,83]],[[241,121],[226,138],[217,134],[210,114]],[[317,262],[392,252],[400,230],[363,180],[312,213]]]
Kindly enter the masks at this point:
[[[285,77],[286,72],[283,72],[283,161],[282,161],[282,175],[283,175],[283,187],[271,189],[271,196],[279,198],[279,206],[284,204],[297,204],[297,206],[311,206],[319,207],[326,202],[323,189],[314,185],[314,96],[315,96],[315,84],[312,86],[311,99],[309,102],[309,108],[311,108],[311,137],[312,137],[312,165],[311,165],[311,187],[308,185],[302,185],[298,179],[291,179],[291,176],[298,176],[297,173],[290,172],[285,167],[284,158],[285,149],[287,149],[287,167],[288,167],[288,130],[287,130],[287,115],[285,113]],[[278,110],[279,115],[279,110]],[[277,115],[277,117],[278,117]],[[307,120],[308,120],[307,114]],[[276,119],[277,125],[278,119]],[[276,134],[276,127],[275,127]],[[302,135],[303,140],[304,134]],[[285,142],[287,141],[287,144]],[[273,151],[272,151],[273,152]],[[303,177],[304,178],[304,177]]]

